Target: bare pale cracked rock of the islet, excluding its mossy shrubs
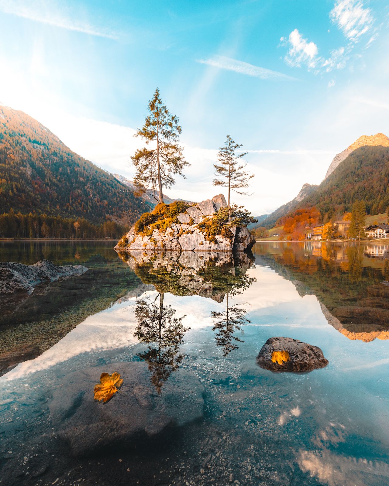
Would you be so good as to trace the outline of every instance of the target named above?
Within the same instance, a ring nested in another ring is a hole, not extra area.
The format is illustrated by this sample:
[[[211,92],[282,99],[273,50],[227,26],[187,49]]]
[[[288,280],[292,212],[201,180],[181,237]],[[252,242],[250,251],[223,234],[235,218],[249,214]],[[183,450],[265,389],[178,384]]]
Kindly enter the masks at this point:
[[[137,235],[134,228],[127,233],[128,244],[115,246],[115,250],[155,250],[155,251],[198,251],[198,252],[240,252],[251,249],[255,238],[246,227],[232,227],[231,238],[215,235],[216,241],[209,241],[207,235],[197,227],[204,217],[212,218],[220,208],[226,208],[223,194],[201,201],[178,214],[179,223],[173,223],[160,232],[155,229],[151,236]]]

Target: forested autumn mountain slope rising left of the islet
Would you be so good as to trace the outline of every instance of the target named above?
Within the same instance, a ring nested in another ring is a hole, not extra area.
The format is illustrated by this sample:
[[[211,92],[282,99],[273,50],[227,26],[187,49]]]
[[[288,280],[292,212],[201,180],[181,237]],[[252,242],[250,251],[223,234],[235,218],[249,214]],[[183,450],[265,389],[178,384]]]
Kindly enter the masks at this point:
[[[131,224],[150,204],[34,118],[0,104],[0,208]]]

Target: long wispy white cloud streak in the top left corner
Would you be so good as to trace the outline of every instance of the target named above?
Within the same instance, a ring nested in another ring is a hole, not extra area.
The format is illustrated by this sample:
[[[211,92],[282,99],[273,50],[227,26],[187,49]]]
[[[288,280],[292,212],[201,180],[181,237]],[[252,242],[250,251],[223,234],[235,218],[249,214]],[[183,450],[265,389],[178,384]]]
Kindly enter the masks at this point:
[[[96,35],[113,40],[118,40],[119,38],[117,33],[92,25],[88,20],[81,20],[78,13],[71,13],[54,2],[0,0],[0,11],[5,14],[12,14],[35,22],[60,27],[61,29],[82,32],[83,34]]]

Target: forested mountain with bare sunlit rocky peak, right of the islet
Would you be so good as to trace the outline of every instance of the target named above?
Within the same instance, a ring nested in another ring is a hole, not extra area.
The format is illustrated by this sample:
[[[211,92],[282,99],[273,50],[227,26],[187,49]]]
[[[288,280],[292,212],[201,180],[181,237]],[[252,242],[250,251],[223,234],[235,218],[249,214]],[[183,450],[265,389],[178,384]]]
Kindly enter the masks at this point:
[[[304,184],[292,201],[271,213],[262,226],[272,227],[297,208],[316,206],[321,214],[351,210],[363,199],[368,213],[385,212],[389,206],[389,138],[382,134],[362,135],[332,160],[320,185]]]

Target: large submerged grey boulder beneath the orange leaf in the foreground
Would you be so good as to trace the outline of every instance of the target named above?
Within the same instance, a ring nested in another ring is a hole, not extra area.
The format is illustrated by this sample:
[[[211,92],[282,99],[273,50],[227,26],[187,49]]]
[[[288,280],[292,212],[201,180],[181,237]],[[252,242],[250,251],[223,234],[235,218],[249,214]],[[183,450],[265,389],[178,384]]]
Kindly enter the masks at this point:
[[[124,380],[111,400],[94,401],[93,388],[103,372],[120,373]],[[65,376],[49,404],[53,427],[74,455],[114,444],[136,444],[168,426],[181,427],[203,417],[204,387],[183,369],[172,373],[160,394],[144,362],[109,364]]]

